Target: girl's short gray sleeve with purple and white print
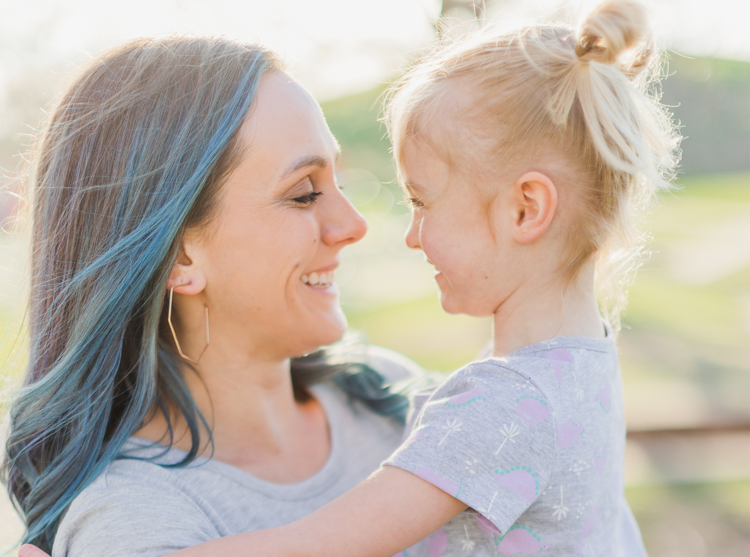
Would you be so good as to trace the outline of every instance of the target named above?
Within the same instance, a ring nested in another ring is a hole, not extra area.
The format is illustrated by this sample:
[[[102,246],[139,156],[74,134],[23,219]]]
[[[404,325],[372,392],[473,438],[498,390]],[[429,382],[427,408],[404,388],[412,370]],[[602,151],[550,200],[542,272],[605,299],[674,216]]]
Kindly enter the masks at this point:
[[[469,364],[431,395],[384,464],[439,487],[505,533],[549,481],[556,454],[551,415],[522,373],[489,361]]]

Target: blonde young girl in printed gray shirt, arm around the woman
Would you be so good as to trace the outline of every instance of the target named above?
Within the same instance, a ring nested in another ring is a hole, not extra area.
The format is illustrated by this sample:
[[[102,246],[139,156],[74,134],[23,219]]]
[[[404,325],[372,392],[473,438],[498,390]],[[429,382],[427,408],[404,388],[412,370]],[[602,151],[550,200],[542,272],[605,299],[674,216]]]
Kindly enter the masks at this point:
[[[407,244],[435,265],[446,311],[494,317],[492,357],[449,376],[344,496],[175,555],[645,554],[623,496],[613,330],[595,297],[637,251],[637,210],[676,163],[640,72],[643,22],[638,4],[608,1],[577,33],[485,34],[407,73],[389,102],[414,208]]]

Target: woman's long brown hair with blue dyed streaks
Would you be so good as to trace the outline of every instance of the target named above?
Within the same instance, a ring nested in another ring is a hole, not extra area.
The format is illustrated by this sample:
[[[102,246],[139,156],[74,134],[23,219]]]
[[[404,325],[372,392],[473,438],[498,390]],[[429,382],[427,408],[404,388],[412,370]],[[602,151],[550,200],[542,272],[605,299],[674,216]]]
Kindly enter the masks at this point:
[[[199,453],[208,425],[163,336],[166,281],[185,229],[217,208],[261,78],[279,70],[257,45],[141,39],[92,61],[52,112],[33,169],[29,364],[2,469],[27,543],[51,550],[68,505],[154,409],[187,421],[177,466]],[[295,393],[338,374],[375,411],[403,413],[404,397],[354,366],[293,361]]]

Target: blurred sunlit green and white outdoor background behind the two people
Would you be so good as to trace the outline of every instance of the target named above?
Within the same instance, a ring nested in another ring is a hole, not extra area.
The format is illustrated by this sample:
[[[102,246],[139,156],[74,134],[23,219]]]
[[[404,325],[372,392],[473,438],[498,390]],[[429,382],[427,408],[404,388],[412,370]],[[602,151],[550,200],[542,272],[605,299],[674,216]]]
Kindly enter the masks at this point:
[[[0,0],[0,412],[23,370],[26,235],[13,181],[43,111],[78,65],[172,31],[259,40],[323,105],[340,183],[370,230],[337,273],[352,328],[431,370],[487,343],[487,319],[440,308],[431,268],[404,246],[380,95],[438,34],[538,19],[577,22],[595,1]],[[652,557],[750,555],[750,3],[651,0],[669,53],[663,100],[682,124],[680,189],[649,215],[654,241],[619,337],[626,494]],[[21,223],[23,225],[23,223]],[[23,226],[21,226],[23,229]],[[0,494],[0,555],[23,532]]]

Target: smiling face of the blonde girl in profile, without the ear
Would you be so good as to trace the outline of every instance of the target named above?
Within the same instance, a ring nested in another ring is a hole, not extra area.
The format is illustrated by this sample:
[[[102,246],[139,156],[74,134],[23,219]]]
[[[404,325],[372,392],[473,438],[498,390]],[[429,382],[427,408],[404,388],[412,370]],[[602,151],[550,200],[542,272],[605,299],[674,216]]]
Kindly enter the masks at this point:
[[[404,145],[401,170],[413,205],[407,245],[435,266],[443,309],[493,315],[533,267],[514,239],[523,214],[523,199],[519,205],[511,195],[515,178],[484,177],[499,192],[488,203],[481,184],[469,183],[419,142]]]

